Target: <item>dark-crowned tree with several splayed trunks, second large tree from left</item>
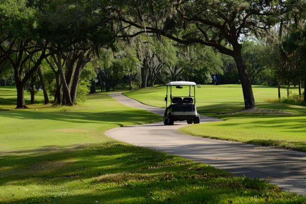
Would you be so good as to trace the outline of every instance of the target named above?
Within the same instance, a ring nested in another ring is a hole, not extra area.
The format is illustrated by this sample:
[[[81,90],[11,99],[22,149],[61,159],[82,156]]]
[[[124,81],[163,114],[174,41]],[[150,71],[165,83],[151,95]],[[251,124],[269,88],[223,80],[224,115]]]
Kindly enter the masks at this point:
[[[48,50],[51,57],[46,61],[56,79],[55,101],[74,105],[80,77],[95,50],[113,43],[111,25],[105,24],[109,19],[100,22],[102,16],[108,15],[107,9],[100,8],[97,19],[97,11],[92,9],[96,3],[87,0],[31,0],[29,5],[43,11],[45,24],[50,30],[46,38],[50,41]]]

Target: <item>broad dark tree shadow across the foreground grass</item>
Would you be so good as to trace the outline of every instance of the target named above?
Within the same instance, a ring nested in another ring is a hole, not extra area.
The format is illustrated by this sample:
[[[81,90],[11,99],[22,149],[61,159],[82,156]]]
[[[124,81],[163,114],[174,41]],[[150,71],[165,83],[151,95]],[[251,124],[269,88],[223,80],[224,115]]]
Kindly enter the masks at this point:
[[[1,204],[306,201],[263,181],[119,142],[6,154],[0,163]]]

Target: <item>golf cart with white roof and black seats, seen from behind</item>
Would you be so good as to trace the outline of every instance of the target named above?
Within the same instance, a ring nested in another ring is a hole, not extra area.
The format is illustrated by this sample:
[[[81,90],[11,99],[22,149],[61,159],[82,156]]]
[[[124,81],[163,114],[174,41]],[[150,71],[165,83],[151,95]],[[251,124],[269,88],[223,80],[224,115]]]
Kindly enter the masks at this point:
[[[169,82],[166,84],[167,93],[165,97],[166,101],[166,111],[164,113],[164,124],[173,125],[174,121],[187,120],[188,124],[200,123],[200,115],[197,113],[196,109],[196,83],[195,82],[184,82],[176,81]],[[189,95],[187,96],[173,96],[172,89],[189,88]],[[168,105],[168,90],[170,88],[170,105]],[[193,88],[194,94],[191,94],[191,88]]]

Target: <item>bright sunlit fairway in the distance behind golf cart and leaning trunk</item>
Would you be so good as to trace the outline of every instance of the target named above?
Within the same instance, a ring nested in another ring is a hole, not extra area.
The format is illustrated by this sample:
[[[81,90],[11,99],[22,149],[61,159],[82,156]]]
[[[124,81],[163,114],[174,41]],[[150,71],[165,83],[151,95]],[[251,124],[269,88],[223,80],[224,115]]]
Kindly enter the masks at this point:
[[[292,89],[291,91],[297,92],[298,90]],[[273,105],[271,103],[265,103],[265,101],[271,99],[276,100],[278,97],[276,87],[253,86],[253,92],[257,105],[262,108],[266,108],[267,105]],[[189,93],[187,87],[183,89],[173,89],[174,96],[186,95],[187,93]],[[164,86],[139,89],[124,94],[151,106],[165,108],[166,105],[164,101],[166,87]],[[281,94],[282,96],[286,96],[286,90],[281,89]],[[219,113],[232,112],[244,108],[241,85],[201,85],[201,88],[196,88],[196,96],[198,111]],[[289,105],[282,106],[284,109],[291,109],[291,107],[293,109],[298,108]],[[298,109],[301,111],[300,107]],[[303,108],[303,111],[306,113],[306,108]]]

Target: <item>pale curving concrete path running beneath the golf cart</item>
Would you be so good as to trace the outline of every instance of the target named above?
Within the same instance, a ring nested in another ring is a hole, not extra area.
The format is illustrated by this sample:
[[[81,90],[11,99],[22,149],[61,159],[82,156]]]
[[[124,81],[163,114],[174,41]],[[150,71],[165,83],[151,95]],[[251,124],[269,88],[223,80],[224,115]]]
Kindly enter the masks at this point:
[[[121,93],[110,93],[124,105],[163,115],[164,109],[147,106]],[[201,122],[218,121],[201,116]],[[229,142],[179,133],[186,121],[166,126],[162,122],[120,127],[105,134],[133,145],[153,148],[187,159],[210,164],[236,176],[265,179],[285,191],[306,196],[306,153]],[[218,131],[218,130],[216,130]]]

